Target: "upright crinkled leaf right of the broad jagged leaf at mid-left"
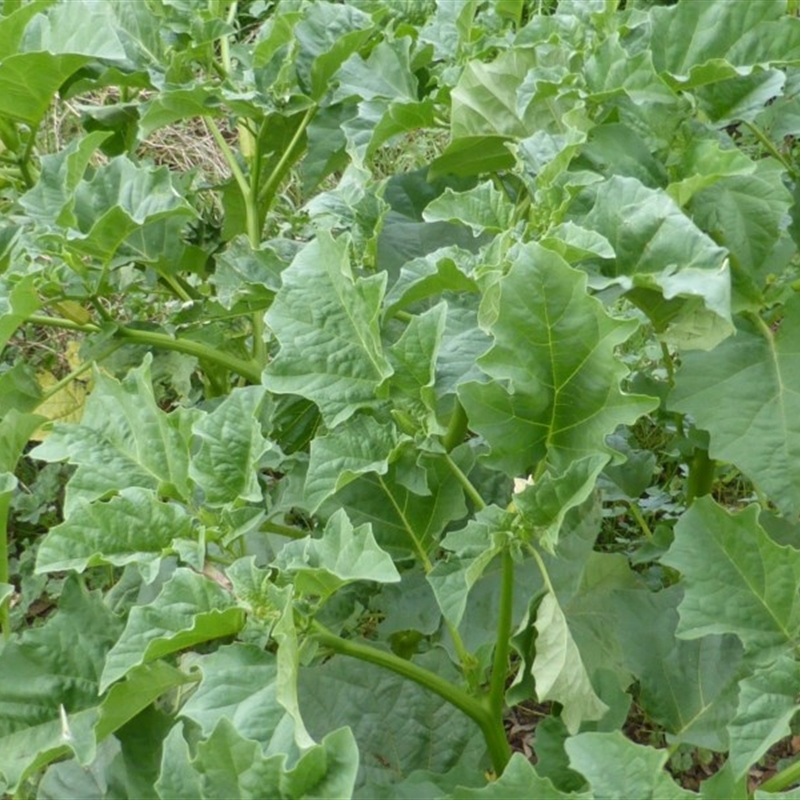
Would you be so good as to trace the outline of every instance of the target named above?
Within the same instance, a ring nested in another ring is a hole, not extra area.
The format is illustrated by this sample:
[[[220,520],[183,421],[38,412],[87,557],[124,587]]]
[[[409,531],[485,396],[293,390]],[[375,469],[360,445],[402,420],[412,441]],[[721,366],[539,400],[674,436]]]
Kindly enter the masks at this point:
[[[261,434],[256,412],[263,399],[261,386],[234,389],[192,426],[200,447],[192,458],[189,475],[212,507],[239,499],[261,500],[258,467],[267,452],[277,449]]]

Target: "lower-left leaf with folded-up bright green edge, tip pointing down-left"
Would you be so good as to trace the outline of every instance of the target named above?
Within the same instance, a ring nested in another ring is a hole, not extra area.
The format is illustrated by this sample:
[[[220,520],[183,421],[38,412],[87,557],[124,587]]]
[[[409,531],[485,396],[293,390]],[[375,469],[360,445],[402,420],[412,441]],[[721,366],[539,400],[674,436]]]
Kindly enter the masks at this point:
[[[244,613],[222,587],[178,568],[150,605],[131,609],[125,629],[108,653],[100,690],[134,667],[241,629]]]

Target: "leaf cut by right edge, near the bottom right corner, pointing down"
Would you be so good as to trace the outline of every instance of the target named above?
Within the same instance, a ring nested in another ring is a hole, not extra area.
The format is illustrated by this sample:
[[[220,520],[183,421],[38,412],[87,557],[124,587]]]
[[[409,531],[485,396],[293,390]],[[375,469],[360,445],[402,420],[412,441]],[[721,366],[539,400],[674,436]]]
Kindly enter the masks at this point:
[[[728,725],[730,763],[737,778],[747,774],[773,744],[791,735],[800,708],[800,665],[794,654],[757,669],[739,684],[739,711]]]

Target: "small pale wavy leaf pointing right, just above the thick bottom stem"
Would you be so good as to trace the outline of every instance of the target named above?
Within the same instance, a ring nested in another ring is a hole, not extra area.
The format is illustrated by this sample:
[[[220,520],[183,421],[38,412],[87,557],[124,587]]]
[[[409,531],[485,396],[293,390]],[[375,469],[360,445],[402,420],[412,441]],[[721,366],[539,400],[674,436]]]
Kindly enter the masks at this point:
[[[295,591],[323,600],[354,581],[396,583],[400,574],[381,550],[370,525],[354,528],[344,510],[337,511],[319,539],[307,536],[285,544],[274,565],[293,574]]]

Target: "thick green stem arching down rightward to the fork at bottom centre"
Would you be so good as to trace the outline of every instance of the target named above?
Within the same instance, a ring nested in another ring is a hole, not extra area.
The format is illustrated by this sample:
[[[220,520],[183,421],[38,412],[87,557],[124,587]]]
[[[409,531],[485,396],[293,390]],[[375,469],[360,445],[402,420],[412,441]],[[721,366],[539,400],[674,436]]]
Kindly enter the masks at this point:
[[[489,757],[495,772],[500,775],[511,758],[511,748],[506,740],[502,719],[497,719],[492,712],[481,702],[471,697],[463,689],[441,678],[435,672],[424,669],[384,650],[343,639],[329,631],[319,622],[312,623],[312,632],[317,641],[334,653],[367,661],[384,669],[388,669],[403,678],[408,678],[414,683],[438,694],[443,700],[455,706],[459,711],[472,719],[483,733],[489,749]]]

